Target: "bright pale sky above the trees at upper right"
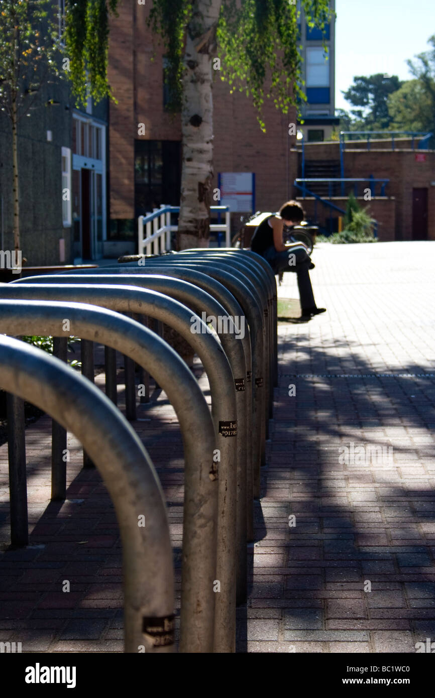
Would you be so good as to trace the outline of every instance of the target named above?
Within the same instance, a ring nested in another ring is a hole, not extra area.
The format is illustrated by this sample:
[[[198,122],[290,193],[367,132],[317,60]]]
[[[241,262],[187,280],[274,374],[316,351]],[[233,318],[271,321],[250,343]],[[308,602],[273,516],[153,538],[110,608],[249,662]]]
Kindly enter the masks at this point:
[[[435,34],[435,0],[336,0],[335,107],[349,110],[341,94],[354,75],[388,73],[410,80],[406,59],[429,49]]]

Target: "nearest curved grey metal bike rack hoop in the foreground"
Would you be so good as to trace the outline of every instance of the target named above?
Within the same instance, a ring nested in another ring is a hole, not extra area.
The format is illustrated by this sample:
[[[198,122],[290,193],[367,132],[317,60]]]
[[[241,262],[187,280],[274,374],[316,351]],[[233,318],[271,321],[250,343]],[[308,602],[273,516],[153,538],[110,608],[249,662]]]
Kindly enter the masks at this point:
[[[11,326],[29,318],[25,307],[15,307]],[[168,517],[156,472],[140,440],[105,395],[80,374],[36,347],[5,336],[0,336],[0,386],[73,431],[101,472],[115,505],[123,547],[124,651],[136,654],[141,646],[148,653],[174,651]],[[140,527],[138,520],[145,512],[146,526]],[[168,629],[163,646],[157,644],[156,628],[161,627]]]

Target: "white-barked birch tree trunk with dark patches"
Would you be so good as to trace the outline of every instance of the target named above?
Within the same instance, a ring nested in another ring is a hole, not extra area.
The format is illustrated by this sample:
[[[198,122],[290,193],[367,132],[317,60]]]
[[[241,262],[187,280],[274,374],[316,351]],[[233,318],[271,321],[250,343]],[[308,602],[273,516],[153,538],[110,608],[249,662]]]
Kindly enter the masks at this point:
[[[186,32],[177,246],[207,247],[213,177],[212,59],[221,0],[196,0]]]

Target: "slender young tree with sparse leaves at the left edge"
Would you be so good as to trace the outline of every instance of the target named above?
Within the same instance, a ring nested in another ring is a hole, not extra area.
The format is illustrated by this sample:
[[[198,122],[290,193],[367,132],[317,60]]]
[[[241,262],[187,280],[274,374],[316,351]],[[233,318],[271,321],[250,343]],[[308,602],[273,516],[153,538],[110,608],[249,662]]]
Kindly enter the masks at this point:
[[[12,130],[13,244],[20,250],[20,193],[17,129],[30,116],[41,87],[59,75],[59,27],[52,0],[1,0],[0,108]]]

